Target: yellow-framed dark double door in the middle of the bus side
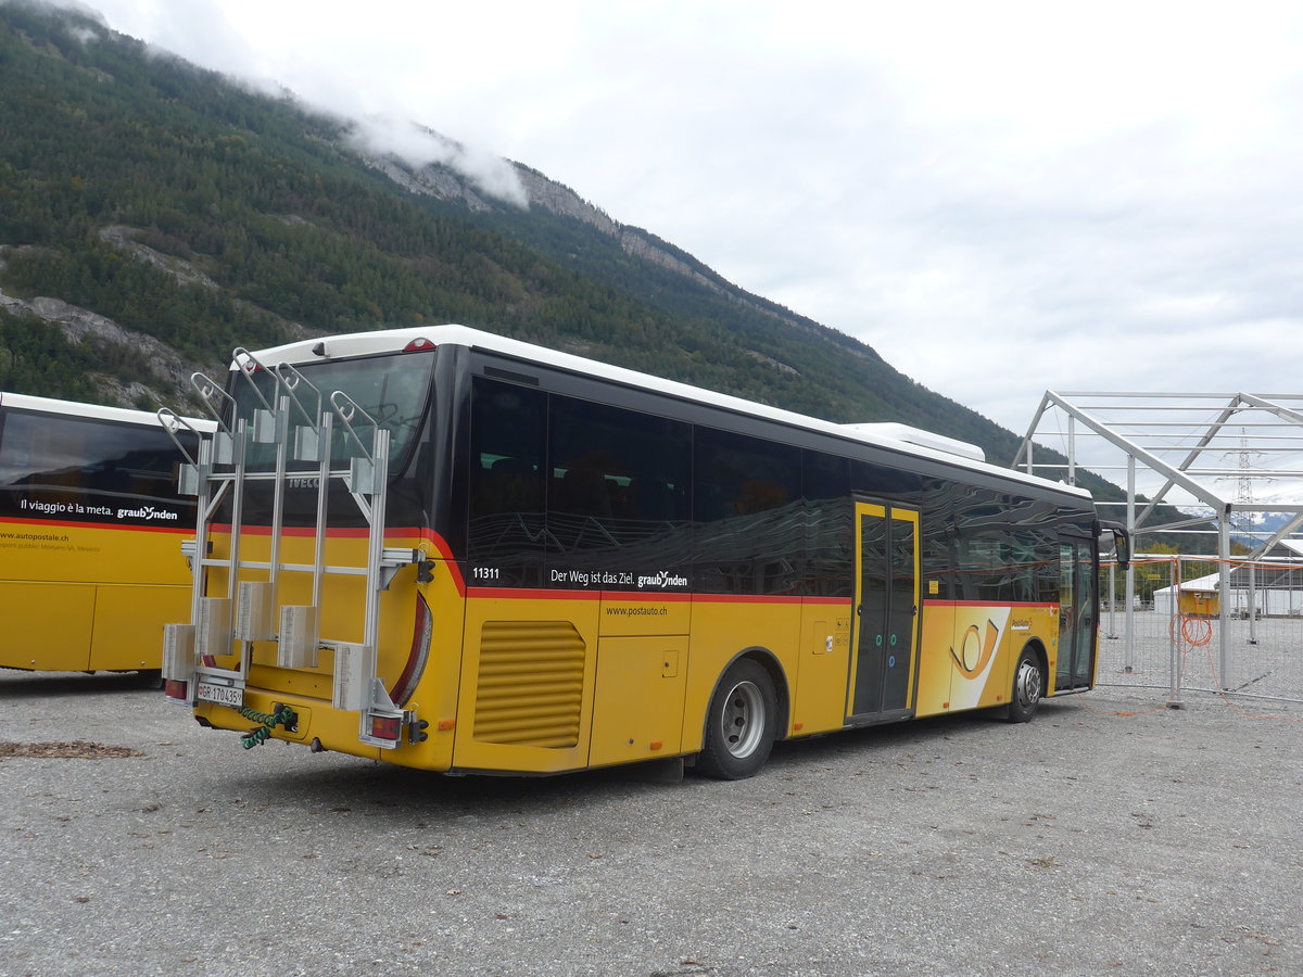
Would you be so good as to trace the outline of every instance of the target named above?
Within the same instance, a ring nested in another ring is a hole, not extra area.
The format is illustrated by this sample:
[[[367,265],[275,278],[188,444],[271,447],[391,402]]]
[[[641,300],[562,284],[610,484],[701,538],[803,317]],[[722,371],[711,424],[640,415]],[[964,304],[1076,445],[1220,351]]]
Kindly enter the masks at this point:
[[[855,616],[847,718],[912,706],[919,650],[919,512],[855,503]]]

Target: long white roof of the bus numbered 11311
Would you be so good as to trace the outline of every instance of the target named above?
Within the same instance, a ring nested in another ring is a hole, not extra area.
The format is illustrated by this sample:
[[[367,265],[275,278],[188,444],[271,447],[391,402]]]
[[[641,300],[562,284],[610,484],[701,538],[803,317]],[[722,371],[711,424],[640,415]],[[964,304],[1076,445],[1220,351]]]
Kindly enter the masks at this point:
[[[425,340],[431,347],[459,345],[485,352],[500,353],[515,360],[537,362],[545,366],[554,366],[559,370],[598,376],[605,380],[637,387],[657,393],[665,393],[680,400],[696,401],[719,406],[735,413],[751,414],[769,421],[777,421],[792,427],[803,427],[810,431],[831,434],[847,440],[873,444],[891,451],[898,451],[915,457],[945,461],[962,468],[985,472],[999,478],[1009,478],[1041,488],[1054,488],[1070,495],[1091,498],[1084,488],[1053,482],[1037,475],[1029,475],[1015,469],[999,468],[985,460],[981,448],[975,444],[955,440],[945,435],[924,431],[900,423],[847,423],[839,425],[831,421],[822,421],[817,417],[797,414],[791,410],[773,408],[743,397],[717,393],[702,387],[693,387],[676,380],[667,380],[652,374],[627,370],[622,366],[612,366],[598,360],[562,353],[547,347],[533,343],[524,343],[507,336],[498,336],[483,330],[468,326],[414,326],[396,330],[377,330],[374,332],[352,332],[340,336],[326,336],[321,339],[308,339],[298,343],[288,343],[280,347],[271,347],[253,352],[253,358],[259,363],[272,367],[281,362],[291,365],[305,362],[319,362],[324,360],[343,360],[356,356],[374,356],[377,353],[401,352],[405,349],[422,349],[425,345],[413,345],[418,340]],[[238,370],[237,362],[231,363],[232,370]]]

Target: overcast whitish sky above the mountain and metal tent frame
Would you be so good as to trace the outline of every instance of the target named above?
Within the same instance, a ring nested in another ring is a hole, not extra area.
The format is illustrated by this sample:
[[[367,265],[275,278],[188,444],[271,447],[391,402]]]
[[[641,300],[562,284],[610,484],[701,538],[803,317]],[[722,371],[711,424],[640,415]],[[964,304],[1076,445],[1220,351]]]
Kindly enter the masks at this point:
[[[85,3],[526,163],[1019,432],[1048,388],[1303,388],[1296,0]]]

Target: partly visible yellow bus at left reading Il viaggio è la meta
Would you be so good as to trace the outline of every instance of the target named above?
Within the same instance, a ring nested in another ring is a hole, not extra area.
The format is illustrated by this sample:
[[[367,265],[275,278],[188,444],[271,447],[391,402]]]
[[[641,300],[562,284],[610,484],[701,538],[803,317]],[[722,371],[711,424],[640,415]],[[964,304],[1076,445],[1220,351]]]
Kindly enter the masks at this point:
[[[215,425],[186,423],[194,459]],[[0,393],[0,667],[158,679],[190,607],[185,460],[155,414]]]

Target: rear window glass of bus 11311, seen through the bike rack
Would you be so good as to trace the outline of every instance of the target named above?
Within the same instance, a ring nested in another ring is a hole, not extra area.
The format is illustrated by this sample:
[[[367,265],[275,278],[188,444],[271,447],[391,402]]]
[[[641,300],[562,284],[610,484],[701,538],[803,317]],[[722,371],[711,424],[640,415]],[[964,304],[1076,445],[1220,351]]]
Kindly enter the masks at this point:
[[[374,422],[390,432],[390,460],[396,461],[405,457],[421,430],[433,366],[433,350],[297,363],[294,370],[305,382],[293,391],[289,422],[293,426],[318,426],[321,412],[331,410],[331,395],[340,391],[361,410],[353,414],[349,423],[365,451],[371,448]],[[309,383],[315,389],[309,388]],[[268,367],[251,374],[233,374],[231,393],[237,417],[250,419],[255,410],[276,408],[278,399],[285,396],[285,387],[276,382]],[[335,414],[331,465],[347,465],[349,459],[362,453],[362,447],[348,436],[344,423]],[[253,472],[271,470],[275,457],[275,446],[250,444],[248,468]],[[305,469],[313,462],[291,461],[289,466]]]

